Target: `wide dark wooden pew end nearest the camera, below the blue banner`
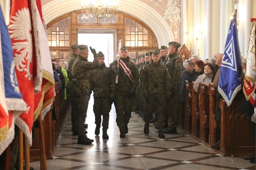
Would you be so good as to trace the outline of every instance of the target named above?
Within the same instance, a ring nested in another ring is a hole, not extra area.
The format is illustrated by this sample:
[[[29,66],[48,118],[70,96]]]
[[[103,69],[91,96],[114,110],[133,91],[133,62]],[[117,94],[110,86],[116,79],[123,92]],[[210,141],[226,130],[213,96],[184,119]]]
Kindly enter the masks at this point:
[[[221,146],[223,155],[249,155],[254,151],[246,113],[239,112],[239,100],[234,99],[230,107],[220,99],[221,107]]]

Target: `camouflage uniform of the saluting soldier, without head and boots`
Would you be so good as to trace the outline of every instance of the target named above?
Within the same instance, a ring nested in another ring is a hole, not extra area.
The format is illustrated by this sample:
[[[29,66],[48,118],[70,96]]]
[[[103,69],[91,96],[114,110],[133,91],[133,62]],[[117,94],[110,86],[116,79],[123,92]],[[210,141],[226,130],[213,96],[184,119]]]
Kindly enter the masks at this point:
[[[90,99],[90,70],[96,69],[99,66],[98,57],[94,55],[93,62],[89,62],[82,55],[78,55],[72,66],[72,75],[77,79],[77,86],[74,86],[73,94],[76,96],[76,113],[75,126],[78,135],[84,135],[84,122]]]

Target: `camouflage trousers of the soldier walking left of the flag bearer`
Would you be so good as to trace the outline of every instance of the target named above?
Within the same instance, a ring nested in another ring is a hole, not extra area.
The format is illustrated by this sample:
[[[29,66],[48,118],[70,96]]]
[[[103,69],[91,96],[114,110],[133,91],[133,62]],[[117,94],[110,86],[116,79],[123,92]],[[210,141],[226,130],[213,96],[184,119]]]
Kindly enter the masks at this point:
[[[100,126],[102,116],[102,129],[108,129],[110,110],[111,103],[109,102],[109,98],[94,98],[93,112],[96,126]]]

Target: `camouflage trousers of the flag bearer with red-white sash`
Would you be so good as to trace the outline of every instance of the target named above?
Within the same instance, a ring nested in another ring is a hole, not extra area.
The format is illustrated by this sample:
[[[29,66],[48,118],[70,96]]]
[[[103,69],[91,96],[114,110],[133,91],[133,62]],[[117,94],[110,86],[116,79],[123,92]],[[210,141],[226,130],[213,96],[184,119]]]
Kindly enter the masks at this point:
[[[134,106],[133,97],[127,97],[120,93],[115,94],[114,99],[115,112],[117,113],[117,126],[120,131],[124,131],[124,126],[129,123],[129,120],[132,116],[132,108]]]

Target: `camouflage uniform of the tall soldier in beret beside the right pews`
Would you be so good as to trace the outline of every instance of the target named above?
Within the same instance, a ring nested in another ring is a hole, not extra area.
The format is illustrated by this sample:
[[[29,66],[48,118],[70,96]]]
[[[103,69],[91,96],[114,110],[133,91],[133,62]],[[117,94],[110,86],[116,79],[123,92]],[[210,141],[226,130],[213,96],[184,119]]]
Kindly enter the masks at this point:
[[[171,76],[171,100],[167,104],[168,107],[168,124],[172,128],[176,128],[178,123],[178,92],[180,90],[180,78],[182,76],[183,62],[178,53],[173,53],[168,56],[169,60],[166,62],[169,74]]]

